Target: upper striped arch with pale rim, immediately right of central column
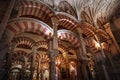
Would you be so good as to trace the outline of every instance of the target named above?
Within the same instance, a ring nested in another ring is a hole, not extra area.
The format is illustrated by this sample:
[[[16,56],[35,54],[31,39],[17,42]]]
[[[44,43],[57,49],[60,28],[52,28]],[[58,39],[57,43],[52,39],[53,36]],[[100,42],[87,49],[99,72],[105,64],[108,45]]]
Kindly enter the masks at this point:
[[[77,20],[71,16],[70,14],[64,12],[58,12],[57,17],[59,19],[58,29],[68,29],[68,30],[75,30],[77,27]]]

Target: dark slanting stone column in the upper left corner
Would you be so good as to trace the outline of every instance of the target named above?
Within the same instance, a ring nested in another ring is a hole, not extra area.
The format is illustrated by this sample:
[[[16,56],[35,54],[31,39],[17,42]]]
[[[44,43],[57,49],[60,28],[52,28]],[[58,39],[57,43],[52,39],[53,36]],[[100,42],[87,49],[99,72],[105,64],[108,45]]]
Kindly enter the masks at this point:
[[[2,35],[3,35],[3,33],[4,33],[4,31],[5,31],[5,28],[6,28],[6,25],[7,25],[8,20],[9,20],[9,17],[10,17],[10,15],[11,15],[11,12],[12,12],[12,10],[13,10],[15,1],[16,1],[16,0],[11,0],[11,1],[10,1],[10,4],[9,4],[9,6],[8,6],[8,9],[6,10],[6,13],[5,13],[4,17],[3,17],[2,22],[0,23],[0,39],[1,39],[1,37],[2,37]]]

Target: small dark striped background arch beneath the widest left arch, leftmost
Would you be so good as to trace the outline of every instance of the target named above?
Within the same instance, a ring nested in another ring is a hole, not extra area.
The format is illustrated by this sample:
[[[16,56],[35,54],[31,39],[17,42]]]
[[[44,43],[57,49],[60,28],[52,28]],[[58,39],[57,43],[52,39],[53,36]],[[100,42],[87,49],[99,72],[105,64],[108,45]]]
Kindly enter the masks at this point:
[[[13,39],[12,42],[15,42],[16,47],[18,48],[27,48],[27,49],[32,49],[35,44],[35,41],[28,37],[18,37]]]

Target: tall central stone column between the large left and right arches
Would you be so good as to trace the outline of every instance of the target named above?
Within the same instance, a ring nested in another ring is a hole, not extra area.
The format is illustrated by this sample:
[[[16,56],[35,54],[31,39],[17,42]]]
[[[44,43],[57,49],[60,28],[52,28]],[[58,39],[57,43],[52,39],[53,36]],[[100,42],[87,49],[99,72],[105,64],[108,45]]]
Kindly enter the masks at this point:
[[[56,18],[52,18],[53,22],[53,37],[52,37],[52,51],[50,52],[50,80],[57,80],[55,58],[58,55],[58,36],[57,36],[57,23]]]

